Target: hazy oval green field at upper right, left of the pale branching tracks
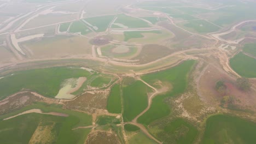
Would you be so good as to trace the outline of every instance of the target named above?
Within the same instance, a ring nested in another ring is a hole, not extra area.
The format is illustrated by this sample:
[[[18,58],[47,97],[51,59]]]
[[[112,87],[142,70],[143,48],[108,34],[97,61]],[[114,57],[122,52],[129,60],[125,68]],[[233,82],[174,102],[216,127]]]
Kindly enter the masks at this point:
[[[194,29],[196,32],[199,33],[211,33],[216,32],[220,29],[218,26],[215,26],[212,23],[207,22],[205,20],[189,21],[188,23],[185,23],[183,26]]]

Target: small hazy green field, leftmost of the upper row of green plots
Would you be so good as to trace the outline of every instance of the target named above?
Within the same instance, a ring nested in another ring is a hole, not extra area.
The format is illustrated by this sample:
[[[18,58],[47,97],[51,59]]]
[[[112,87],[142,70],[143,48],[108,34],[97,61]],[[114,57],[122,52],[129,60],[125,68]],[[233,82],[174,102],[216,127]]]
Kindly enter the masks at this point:
[[[82,35],[88,34],[91,32],[90,29],[85,25],[82,21],[75,21],[72,23],[71,27],[69,28],[70,33],[81,33]]]

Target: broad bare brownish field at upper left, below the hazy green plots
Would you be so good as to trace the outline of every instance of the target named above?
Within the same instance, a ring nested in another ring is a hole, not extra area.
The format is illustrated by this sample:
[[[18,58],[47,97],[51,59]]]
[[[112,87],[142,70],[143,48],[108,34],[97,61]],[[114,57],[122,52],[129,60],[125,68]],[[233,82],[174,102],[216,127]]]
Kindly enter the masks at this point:
[[[66,57],[70,55],[91,55],[89,39],[78,36],[57,36],[41,40],[26,41],[22,47],[28,49],[31,58]]]

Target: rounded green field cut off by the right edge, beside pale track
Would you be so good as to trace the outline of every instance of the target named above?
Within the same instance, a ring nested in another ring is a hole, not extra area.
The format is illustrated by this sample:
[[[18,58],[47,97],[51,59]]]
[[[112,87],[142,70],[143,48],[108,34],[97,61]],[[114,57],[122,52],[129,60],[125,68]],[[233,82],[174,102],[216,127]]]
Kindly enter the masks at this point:
[[[230,59],[230,66],[243,77],[256,77],[256,59],[242,52]]]

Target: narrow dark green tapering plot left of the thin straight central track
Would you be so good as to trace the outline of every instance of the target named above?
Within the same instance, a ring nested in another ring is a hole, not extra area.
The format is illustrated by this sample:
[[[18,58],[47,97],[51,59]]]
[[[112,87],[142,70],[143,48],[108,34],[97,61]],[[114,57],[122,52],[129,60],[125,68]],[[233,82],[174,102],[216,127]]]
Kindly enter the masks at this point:
[[[110,113],[121,113],[121,95],[120,95],[120,85],[114,85],[110,91],[107,103],[107,110]]]

